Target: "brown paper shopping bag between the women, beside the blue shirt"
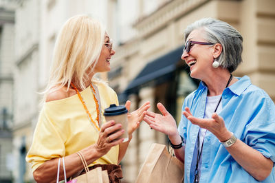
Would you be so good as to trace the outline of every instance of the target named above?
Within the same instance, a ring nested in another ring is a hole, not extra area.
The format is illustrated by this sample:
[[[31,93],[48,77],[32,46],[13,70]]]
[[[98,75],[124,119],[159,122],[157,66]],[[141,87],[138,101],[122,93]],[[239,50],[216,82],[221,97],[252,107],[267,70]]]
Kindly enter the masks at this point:
[[[164,144],[152,144],[135,183],[184,181],[184,164],[168,153]]]

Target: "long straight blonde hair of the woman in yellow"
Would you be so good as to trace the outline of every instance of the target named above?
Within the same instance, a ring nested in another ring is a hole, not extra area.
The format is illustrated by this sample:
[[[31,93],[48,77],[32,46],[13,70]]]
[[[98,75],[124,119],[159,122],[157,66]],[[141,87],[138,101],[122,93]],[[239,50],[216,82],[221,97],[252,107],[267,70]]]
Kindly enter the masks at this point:
[[[50,78],[43,94],[47,95],[51,89],[61,89],[66,85],[69,89],[72,81],[80,89],[85,89],[85,81],[90,74],[87,70],[94,71],[104,43],[104,34],[102,24],[87,15],[77,15],[67,20],[54,45]]]

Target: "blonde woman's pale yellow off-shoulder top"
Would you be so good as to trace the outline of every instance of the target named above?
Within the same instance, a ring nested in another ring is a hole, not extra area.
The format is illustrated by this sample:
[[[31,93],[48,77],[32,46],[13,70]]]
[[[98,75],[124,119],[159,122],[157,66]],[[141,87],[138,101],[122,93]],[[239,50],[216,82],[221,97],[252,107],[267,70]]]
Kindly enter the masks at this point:
[[[118,105],[118,96],[111,87],[96,83],[100,94],[102,123],[104,109],[110,104]],[[92,118],[96,119],[96,103],[91,87],[80,92]],[[35,171],[43,162],[76,153],[98,140],[97,129],[91,125],[78,95],[45,103],[39,115],[34,137],[26,161],[32,164]],[[94,164],[118,164],[119,146],[111,150]]]

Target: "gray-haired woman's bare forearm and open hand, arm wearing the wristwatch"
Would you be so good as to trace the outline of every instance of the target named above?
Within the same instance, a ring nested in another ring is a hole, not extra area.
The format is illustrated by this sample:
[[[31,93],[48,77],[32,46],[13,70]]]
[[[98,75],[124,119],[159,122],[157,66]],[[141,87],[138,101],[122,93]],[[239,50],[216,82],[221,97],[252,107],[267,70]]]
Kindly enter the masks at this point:
[[[211,119],[200,119],[192,116],[190,109],[186,107],[182,114],[184,114],[192,124],[199,125],[199,127],[213,133],[221,142],[225,142],[232,136],[232,133],[226,129],[223,118],[216,113],[212,114]],[[232,146],[226,147],[226,149],[234,160],[236,160],[236,162],[256,180],[263,181],[270,175],[273,168],[273,162],[270,158],[265,158],[260,151],[253,149],[239,139],[236,140]]]

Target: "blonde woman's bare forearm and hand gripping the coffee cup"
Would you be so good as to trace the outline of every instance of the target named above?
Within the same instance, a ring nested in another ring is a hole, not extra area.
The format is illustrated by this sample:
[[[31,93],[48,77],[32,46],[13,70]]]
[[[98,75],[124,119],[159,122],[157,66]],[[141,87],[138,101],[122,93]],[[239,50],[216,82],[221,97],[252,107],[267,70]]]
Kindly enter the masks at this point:
[[[124,130],[121,127],[121,124],[115,124],[113,120],[102,125],[96,144],[91,144],[80,150],[87,164],[93,163],[108,153],[111,147],[122,143],[123,138],[119,139],[119,137],[124,133]],[[36,182],[56,182],[57,164],[58,158],[45,161],[34,171],[34,180]],[[78,171],[83,171],[83,163],[76,153],[65,156],[65,167],[67,177],[75,175]],[[59,178],[60,180],[64,179],[63,173],[60,173]]]

